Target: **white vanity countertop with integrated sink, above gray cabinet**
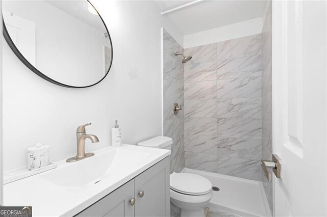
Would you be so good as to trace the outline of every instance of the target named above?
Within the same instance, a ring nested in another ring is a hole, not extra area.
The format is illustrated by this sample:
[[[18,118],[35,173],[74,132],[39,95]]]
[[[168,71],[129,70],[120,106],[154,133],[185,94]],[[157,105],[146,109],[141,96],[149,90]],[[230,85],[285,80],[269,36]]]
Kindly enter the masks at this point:
[[[170,155],[169,150],[135,145],[94,153],[77,162],[58,161],[56,169],[5,184],[4,205],[32,206],[33,216],[73,216]]]

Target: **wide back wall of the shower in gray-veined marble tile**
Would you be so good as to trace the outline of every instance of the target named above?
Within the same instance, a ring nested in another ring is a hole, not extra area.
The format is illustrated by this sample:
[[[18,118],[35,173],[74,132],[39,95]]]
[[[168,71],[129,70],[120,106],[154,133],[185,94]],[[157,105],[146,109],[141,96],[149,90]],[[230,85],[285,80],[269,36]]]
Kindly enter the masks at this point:
[[[185,49],[185,167],[261,180],[262,36]]]

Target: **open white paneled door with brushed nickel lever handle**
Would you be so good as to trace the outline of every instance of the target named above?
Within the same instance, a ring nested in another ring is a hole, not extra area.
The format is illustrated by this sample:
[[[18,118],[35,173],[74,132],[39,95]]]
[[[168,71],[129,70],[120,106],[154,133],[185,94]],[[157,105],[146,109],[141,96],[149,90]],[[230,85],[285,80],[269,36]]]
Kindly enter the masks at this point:
[[[272,2],[275,216],[326,216],[326,2]]]

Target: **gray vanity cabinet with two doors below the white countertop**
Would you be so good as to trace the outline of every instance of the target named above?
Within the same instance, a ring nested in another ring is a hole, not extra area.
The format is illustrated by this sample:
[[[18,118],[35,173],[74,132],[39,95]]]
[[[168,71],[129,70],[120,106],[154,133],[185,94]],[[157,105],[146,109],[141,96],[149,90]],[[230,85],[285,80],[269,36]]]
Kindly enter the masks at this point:
[[[166,157],[76,216],[170,216],[169,177]]]

